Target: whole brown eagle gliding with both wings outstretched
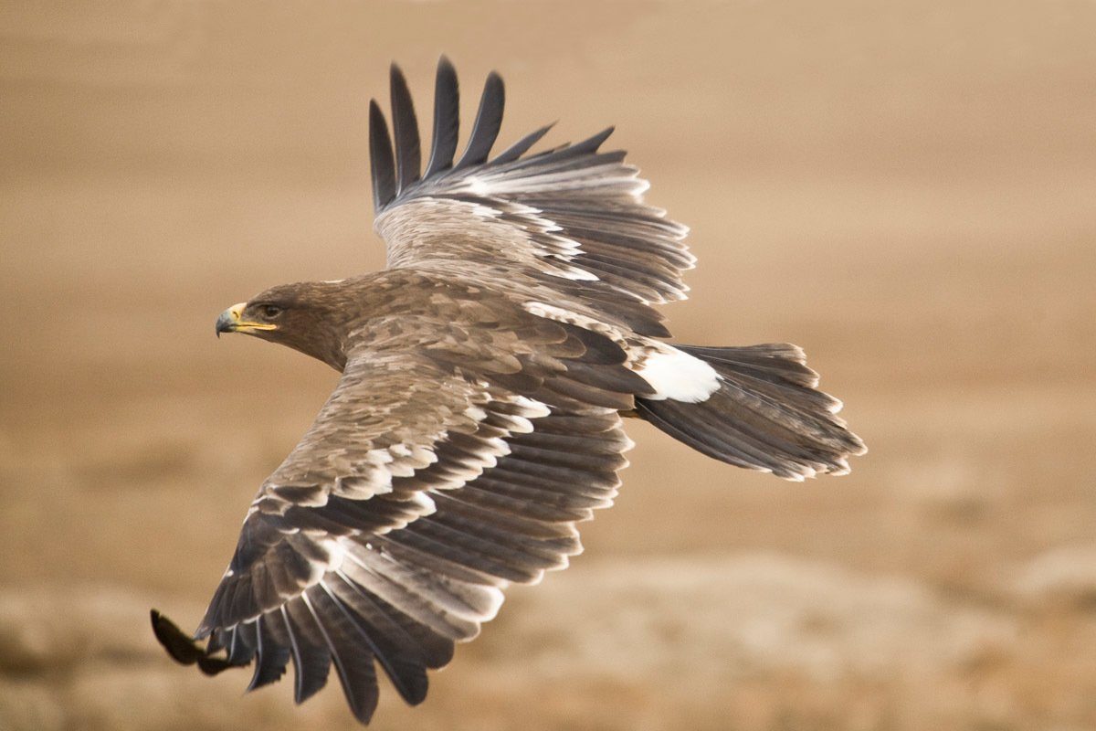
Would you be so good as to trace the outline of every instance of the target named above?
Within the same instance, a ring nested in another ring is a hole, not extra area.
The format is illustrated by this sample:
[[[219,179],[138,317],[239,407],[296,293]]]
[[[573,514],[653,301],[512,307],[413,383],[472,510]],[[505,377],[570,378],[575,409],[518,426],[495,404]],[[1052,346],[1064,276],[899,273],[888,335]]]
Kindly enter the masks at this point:
[[[391,137],[369,105],[387,267],[272,287],[217,319],[218,334],[288,345],[342,378],[259,489],[194,637],[152,612],[172,656],[208,674],[253,664],[249,689],[292,662],[301,703],[334,666],[363,723],[378,664],[422,701],[426,671],[494,617],[507,584],[579,553],[575,525],[613,502],[627,465],[621,416],[789,480],[846,472],[865,452],[796,345],[666,342],[654,306],[685,298],[695,259],[625,152],[601,150],[612,128],[529,153],[543,127],[491,157],[504,100],[491,73],[456,157],[443,57],[423,169],[396,66],[390,93]]]

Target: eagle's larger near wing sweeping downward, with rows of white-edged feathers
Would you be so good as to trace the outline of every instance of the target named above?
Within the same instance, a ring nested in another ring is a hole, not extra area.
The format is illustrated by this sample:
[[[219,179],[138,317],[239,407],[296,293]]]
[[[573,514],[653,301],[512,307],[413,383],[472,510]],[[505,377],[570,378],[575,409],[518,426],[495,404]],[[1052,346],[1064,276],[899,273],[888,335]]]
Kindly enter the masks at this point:
[[[252,503],[197,633],[229,664],[254,661],[251,687],[292,660],[300,703],[333,663],[367,721],[376,661],[422,700],[426,669],[494,615],[500,590],[566,566],[574,523],[615,495],[630,447],[617,410],[646,387],[624,351],[518,307],[450,304],[357,334]]]

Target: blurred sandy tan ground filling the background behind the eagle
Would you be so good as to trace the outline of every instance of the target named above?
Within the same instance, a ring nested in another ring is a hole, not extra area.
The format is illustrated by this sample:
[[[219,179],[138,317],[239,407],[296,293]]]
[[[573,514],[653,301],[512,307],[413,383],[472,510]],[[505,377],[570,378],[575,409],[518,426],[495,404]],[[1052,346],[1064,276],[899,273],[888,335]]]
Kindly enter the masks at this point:
[[[79,8],[79,9],[78,9]],[[0,729],[353,728],[168,660],[335,375],[216,340],[376,269],[366,104],[615,123],[693,227],[680,339],[792,341],[871,452],[803,484],[632,426],[586,552],[377,729],[1096,728],[1096,5],[0,4]]]

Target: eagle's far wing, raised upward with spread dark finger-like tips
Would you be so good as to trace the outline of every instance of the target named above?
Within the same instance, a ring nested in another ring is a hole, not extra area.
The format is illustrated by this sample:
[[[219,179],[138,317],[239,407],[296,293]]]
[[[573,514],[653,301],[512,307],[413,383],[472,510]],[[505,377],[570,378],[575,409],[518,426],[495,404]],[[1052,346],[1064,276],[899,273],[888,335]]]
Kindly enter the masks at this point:
[[[443,57],[423,173],[411,95],[396,66],[391,101],[395,155],[380,107],[374,101],[369,108],[375,226],[390,267],[504,265],[511,276],[569,282],[595,300],[684,298],[681,274],[695,261],[683,243],[687,229],[642,203],[647,181],[624,163],[624,151],[598,151],[612,128],[526,155],[548,132],[543,127],[489,159],[504,101],[502,79],[491,73],[468,145],[454,161],[457,77]]]

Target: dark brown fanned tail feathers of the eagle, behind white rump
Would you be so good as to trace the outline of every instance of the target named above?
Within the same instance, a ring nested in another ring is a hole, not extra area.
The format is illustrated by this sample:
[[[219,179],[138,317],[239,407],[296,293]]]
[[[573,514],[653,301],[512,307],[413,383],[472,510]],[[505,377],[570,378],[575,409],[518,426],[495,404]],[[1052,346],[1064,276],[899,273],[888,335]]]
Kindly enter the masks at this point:
[[[710,392],[638,397],[636,412],[694,449],[788,480],[844,475],[847,457],[867,452],[836,415],[841,401],[817,390],[819,376],[807,367],[799,346],[674,349],[715,372]]]

